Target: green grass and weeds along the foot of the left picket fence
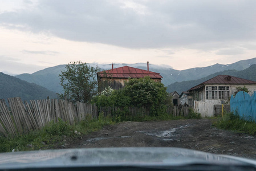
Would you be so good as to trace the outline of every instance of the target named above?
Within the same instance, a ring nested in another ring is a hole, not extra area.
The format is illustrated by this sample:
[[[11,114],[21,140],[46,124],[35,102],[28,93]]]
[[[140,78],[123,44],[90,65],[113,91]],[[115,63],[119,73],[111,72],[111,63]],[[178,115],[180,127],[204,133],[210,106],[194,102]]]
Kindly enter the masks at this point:
[[[0,152],[64,148],[69,145],[69,141],[114,123],[112,119],[103,116],[97,120],[87,117],[82,123],[76,125],[70,125],[59,119],[58,123],[52,122],[44,129],[32,131],[27,135],[0,136]]]

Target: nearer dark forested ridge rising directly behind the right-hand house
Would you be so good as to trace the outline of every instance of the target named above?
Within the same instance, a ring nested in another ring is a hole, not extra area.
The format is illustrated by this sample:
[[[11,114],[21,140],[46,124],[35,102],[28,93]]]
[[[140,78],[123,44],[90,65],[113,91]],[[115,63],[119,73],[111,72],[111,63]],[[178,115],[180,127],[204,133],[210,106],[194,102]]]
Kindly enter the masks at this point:
[[[188,89],[197,86],[198,84],[201,84],[209,79],[214,78],[217,75],[231,75],[238,78],[243,78],[247,80],[252,80],[256,82],[256,64],[251,65],[249,68],[246,68],[242,71],[237,70],[227,70],[222,72],[216,72],[214,74],[211,74],[209,76],[206,76],[205,78],[197,79],[197,80],[190,80],[190,81],[184,81],[184,82],[175,82],[167,86],[168,92],[177,91],[179,94],[182,91],[187,91]]]

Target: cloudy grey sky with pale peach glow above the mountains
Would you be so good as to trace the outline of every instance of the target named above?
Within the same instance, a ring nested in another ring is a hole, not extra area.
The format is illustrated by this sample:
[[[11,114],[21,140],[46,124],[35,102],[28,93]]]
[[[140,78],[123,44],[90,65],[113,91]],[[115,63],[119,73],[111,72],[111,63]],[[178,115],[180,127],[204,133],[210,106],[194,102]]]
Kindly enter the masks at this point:
[[[256,57],[255,0],[0,0],[0,72],[87,63],[176,70]]]

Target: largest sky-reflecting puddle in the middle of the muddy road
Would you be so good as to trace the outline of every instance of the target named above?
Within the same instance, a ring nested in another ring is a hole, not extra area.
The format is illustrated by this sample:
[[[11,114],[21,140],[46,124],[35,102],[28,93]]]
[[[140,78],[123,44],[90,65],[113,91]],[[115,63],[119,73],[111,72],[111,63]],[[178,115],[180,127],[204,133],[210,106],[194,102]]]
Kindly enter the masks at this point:
[[[144,133],[145,135],[148,135],[148,136],[156,136],[156,137],[162,138],[162,140],[164,140],[164,141],[174,141],[174,140],[178,140],[176,138],[176,136],[177,136],[176,131],[178,129],[182,129],[182,128],[188,127],[188,126],[189,125],[182,125],[180,127],[172,128],[172,129],[169,129],[169,130],[166,130],[166,131],[161,131],[161,132],[139,131],[139,133]]]

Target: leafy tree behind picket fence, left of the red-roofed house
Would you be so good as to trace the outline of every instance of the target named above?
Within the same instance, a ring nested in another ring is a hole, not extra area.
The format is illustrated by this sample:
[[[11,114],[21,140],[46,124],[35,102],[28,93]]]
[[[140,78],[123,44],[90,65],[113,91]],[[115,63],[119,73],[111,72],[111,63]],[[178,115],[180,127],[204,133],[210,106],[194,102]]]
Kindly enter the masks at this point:
[[[60,85],[64,89],[64,93],[58,94],[60,99],[67,98],[74,103],[90,101],[97,93],[96,72],[99,72],[99,67],[78,61],[70,62],[65,68],[66,71],[59,75]]]

